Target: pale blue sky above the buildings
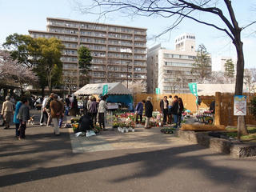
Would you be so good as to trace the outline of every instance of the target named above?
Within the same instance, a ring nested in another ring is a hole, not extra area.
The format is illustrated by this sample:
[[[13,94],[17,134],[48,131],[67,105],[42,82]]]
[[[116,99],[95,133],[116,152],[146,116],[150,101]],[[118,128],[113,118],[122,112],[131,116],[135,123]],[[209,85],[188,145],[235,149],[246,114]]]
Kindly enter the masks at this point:
[[[90,5],[90,0],[0,0],[0,45],[5,42],[6,37],[10,34],[28,34],[28,30],[46,30],[47,17],[70,18],[86,22],[146,28],[148,47],[161,43],[163,47],[170,50],[174,50],[174,39],[179,34],[188,32],[195,35],[197,46],[199,44],[206,46],[212,58],[223,56],[236,59],[236,51],[230,38],[225,33],[210,26],[185,19],[174,30],[162,35],[160,38],[153,38],[171,25],[172,18],[127,17],[123,13],[114,13],[99,19],[98,15],[82,14],[76,4],[78,1],[85,6]],[[222,0],[213,0],[213,2],[219,2],[218,6],[226,14],[226,9],[221,4]],[[256,0],[233,0],[232,5],[239,26],[246,26],[256,20]],[[194,15],[222,26],[222,22],[218,22],[218,18],[214,18],[213,15],[202,13]],[[242,42],[244,43],[245,67],[256,67],[256,24],[242,31]],[[213,70],[219,70],[220,66],[215,61],[216,59],[213,59]]]

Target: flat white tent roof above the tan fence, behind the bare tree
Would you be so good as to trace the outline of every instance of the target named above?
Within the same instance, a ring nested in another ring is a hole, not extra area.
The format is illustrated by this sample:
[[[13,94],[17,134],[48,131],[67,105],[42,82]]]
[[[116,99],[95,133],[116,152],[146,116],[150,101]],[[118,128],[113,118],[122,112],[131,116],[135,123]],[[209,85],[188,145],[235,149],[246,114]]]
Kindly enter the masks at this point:
[[[243,86],[243,93],[248,93],[249,90]],[[235,84],[198,84],[198,95],[215,95],[215,92],[234,94]]]

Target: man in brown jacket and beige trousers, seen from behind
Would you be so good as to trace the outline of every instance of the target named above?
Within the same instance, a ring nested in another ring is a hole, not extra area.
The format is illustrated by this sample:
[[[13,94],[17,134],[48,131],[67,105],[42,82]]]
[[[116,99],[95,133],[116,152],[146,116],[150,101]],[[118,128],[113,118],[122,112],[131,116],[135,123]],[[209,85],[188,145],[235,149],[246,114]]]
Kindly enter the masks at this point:
[[[50,114],[54,122],[54,134],[59,135],[59,118],[64,115],[64,104],[62,101],[58,101],[58,94],[54,94],[53,100],[50,102]]]

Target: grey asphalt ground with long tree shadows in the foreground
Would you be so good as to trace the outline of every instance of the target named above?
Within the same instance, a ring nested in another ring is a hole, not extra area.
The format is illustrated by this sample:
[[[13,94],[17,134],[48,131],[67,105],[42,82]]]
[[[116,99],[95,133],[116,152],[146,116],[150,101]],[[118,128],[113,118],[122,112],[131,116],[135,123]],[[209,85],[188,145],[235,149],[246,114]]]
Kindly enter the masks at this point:
[[[166,137],[154,129],[141,141],[138,131],[142,148],[124,145],[127,133],[121,148],[74,153],[69,129],[54,136],[53,127],[28,126],[18,141],[14,128],[1,127],[0,191],[256,191],[256,158],[230,158],[174,137],[154,142],[152,133]],[[96,137],[112,145],[107,132]],[[152,145],[159,142],[166,143]]]

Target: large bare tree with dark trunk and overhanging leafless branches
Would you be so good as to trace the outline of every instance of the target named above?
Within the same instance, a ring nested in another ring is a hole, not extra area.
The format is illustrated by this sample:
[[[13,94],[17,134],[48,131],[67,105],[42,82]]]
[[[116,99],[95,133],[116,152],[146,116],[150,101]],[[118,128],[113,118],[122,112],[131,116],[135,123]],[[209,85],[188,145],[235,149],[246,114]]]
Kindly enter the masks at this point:
[[[217,7],[218,3],[221,2],[224,6],[220,5]],[[184,18],[190,18],[194,22],[212,26],[214,29],[222,31],[231,39],[237,52],[238,62],[235,94],[242,94],[244,54],[241,32],[256,21],[250,22],[242,27],[239,26],[230,0],[94,0],[94,3],[92,5],[90,4],[90,6],[79,4],[78,7],[83,13],[99,14],[100,16],[116,11],[122,11],[122,13],[130,15],[137,14],[146,17],[158,15],[162,18],[174,18],[174,22],[172,22],[171,26],[167,30],[164,30],[162,34],[174,29]],[[224,9],[227,10],[227,14],[224,13]],[[214,19],[206,21],[205,17],[200,17],[200,14],[196,13],[210,14]],[[220,21],[224,25],[216,24],[215,21]],[[161,34],[158,36],[160,35]],[[243,116],[238,116],[238,137],[240,134],[248,134],[245,118]]]

